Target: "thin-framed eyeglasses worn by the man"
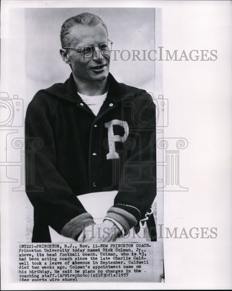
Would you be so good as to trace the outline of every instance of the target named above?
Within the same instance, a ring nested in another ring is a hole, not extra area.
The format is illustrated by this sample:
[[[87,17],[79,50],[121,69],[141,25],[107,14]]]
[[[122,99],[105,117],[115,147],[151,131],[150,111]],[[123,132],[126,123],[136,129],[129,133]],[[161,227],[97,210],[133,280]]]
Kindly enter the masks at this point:
[[[108,39],[107,42],[103,42],[100,45],[94,45],[94,46],[88,45],[88,46],[85,46],[85,47],[78,47],[78,48],[64,47],[64,49],[73,49],[74,51],[76,51],[78,53],[82,53],[82,55],[85,58],[90,58],[94,53],[94,48],[95,47],[98,47],[103,55],[109,55],[110,51],[111,51],[111,48],[112,48],[112,44],[113,44],[113,42]]]

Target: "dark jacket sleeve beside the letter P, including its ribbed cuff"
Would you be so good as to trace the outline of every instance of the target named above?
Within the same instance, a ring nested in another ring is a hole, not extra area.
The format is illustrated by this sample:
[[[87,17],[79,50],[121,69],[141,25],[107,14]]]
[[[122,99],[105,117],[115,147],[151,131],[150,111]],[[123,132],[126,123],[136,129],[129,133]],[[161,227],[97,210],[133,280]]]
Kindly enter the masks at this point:
[[[132,126],[129,135],[124,170],[114,205],[106,217],[118,221],[123,227],[138,226],[156,196],[156,109],[152,97],[140,92],[133,100],[131,109]]]

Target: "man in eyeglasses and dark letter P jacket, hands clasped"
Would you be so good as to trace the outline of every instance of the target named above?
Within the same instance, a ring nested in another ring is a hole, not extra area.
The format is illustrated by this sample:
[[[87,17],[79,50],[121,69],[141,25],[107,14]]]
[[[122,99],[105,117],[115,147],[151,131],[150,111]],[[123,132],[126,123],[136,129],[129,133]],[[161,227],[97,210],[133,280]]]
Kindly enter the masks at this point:
[[[25,119],[27,150],[31,137],[43,140],[26,163],[26,169],[34,163],[35,183],[43,187],[31,191],[26,177],[32,242],[50,242],[49,226],[80,242],[113,241],[121,230],[138,230],[155,198],[154,103],[146,91],[109,73],[112,42],[98,16],[67,19],[61,45],[72,73],[64,84],[38,91]],[[114,204],[96,223],[77,196],[112,190],[118,191]]]

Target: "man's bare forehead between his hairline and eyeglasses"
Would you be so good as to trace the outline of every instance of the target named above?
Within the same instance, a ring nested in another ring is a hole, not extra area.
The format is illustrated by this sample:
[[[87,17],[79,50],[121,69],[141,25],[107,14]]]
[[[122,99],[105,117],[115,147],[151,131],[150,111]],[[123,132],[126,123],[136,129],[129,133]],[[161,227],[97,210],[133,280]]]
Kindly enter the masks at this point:
[[[102,24],[88,26],[77,24],[70,29],[69,36],[73,44],[95,45],[95,43],[107,41],[107,32]]]

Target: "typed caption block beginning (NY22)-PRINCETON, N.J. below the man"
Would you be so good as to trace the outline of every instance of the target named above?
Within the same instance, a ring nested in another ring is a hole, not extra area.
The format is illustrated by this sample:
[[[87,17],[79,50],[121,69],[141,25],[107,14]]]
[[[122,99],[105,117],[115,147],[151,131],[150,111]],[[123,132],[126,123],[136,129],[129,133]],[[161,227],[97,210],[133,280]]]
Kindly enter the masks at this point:
[[[152,243],[18,243],[20,282],[153,281]]]

